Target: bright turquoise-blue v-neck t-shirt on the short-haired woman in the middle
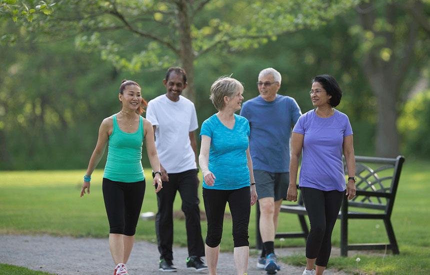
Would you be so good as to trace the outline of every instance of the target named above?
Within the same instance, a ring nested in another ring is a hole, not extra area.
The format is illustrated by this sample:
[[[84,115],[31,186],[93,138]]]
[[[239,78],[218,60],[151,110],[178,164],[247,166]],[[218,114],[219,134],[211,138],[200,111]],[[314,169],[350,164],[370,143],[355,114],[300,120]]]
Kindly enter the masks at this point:
[[[201,136],[210,137],[209,171],[215,176],[213,186],[204,183],[206,189],[233,190],[249,186],[248,149],[249,123],[246,118],[234,114],[233,129],[221,123],[216,114],[201,125]]]

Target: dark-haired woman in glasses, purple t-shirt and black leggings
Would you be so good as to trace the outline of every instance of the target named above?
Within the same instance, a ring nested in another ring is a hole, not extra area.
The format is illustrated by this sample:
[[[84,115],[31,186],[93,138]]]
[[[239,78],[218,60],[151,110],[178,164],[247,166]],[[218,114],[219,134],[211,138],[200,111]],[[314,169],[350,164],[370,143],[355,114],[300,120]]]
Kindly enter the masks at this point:
[[[341,97],[342,91],[332,76],[315,76],[310,99],[316,109],[301,115],[292,130],[286,199],[297,200],[298,159],[303,151],[298,184],[310,222],[303,275],[324,272],[331,252],[331,232],[343,196],[348,200],[355,196],[352,128],[348,117],[334,109]],[[348,169],[346,186],[342,153]]]

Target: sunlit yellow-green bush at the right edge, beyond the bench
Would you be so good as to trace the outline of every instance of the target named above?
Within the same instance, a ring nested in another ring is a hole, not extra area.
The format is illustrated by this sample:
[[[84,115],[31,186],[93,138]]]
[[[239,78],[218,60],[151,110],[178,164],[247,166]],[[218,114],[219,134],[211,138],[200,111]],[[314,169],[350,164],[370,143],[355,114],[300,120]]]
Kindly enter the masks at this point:
[[[428,159],[430,156],[430,90],[416,94],[403,106],[397,127],[402,136],[403,152]]]

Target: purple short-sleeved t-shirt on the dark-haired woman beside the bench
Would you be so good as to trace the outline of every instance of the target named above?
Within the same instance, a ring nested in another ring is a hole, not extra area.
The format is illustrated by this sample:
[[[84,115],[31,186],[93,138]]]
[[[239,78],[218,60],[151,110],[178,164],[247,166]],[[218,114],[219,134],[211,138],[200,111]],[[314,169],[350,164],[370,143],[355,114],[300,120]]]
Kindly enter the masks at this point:
[[[315,110],[301,115],[292,130],[304,135],[298,185],[323,191],[345,190],[343,138],[352,135],[347,115],[337,110],[327,118]]]

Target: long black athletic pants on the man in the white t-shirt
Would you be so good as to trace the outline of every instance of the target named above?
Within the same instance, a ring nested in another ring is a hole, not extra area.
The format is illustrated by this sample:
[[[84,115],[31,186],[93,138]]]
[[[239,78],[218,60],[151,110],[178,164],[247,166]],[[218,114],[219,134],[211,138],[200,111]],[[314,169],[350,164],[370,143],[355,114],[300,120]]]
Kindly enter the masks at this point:
[[[181,173],[168,173],[168,182],[162,182],[162,189],[157,193],[158,213],[155,217],[160,259],[173,260],[173,201],[176,191],[179,191],[182,211],[185,214],[188,256],[204,256],[197,180],[197,170],[192,169]]]

